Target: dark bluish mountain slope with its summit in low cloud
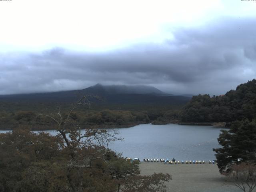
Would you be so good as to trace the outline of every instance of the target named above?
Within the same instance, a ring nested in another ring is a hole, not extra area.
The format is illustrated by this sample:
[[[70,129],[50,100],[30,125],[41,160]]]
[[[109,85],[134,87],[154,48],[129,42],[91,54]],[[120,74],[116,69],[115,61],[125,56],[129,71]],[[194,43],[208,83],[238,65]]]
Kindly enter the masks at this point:
[[[9,102],[74,102],[84,95],[98,96],[107,104],[184,104],[190,100],[184,96],[172,96],[152,86],[103,86],[96,84],[83,90],[49,93],[2,95],[0,101]]]

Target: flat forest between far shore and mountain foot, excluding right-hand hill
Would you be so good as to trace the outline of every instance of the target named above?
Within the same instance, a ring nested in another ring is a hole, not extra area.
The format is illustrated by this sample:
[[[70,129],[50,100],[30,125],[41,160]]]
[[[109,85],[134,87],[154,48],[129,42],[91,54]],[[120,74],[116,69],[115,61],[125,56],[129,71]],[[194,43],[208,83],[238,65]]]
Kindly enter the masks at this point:
[[[16,126],[30,126],[32,130],[54,129],[53,121],[40,114],[56,115],[60,109],[67,114],[72,103],[40,103],[40,102],[0,102],[0,128],[12,129]],[[99,105],[91,103],[88,106],[79,106],[72,112],[72,118],[84,128],[99,127],[128,127],[136,124],[150,123],[163,124],[170,119],[178,118],[180,105]],[[175,113],[174,113],[175,112]],[[164,122],[160,120],[164,119]]]

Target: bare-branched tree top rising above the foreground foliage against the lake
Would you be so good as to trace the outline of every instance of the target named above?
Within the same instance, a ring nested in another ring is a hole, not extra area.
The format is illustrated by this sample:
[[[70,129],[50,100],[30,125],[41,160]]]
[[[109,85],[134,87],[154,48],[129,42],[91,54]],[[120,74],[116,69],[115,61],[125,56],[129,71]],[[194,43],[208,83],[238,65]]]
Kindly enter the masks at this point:
[[[123,140],[119,138],[118,132],[114,129],[102,129],[92,126],[91,128],[84,129],[84,133],[80,128],[78,122],[72,119],[72,113],[78,108],[78,106],[90,107],[91,102],[88,98],[96,98],[95,96],[83,96],[72,106],[68,114],[64,115],[61,113],[59,108],[56,114],[40,114],[40,116],[45,116],[46,118],[52,119],[56,123],[56,131],[59,136],[61,136],[66,144],[66,147],[70,149],[71,154],[76,153],[78,149],[83,147],[97,146],[98,151],[90,156],[84,157],[81,161],[75,159],[70,160],[68,167],[80,167],[86,168],[92,165],[92,160],[103,159],[106,152],[112,152],[108,149],[108,144],[116,140]],[[100,154],[97,156],[97,154]],[[81,162],[83,162],[81,164]]]

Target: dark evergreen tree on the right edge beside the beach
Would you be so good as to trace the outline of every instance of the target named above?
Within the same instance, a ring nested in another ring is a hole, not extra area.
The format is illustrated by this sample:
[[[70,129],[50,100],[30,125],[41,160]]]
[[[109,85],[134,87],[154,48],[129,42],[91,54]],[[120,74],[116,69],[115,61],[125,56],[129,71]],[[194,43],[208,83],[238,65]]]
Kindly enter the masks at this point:
[[[256,119],[233,122],[230,130],[221,131],[218,142],[222,148],[213,150],[221,173],[230,172],[233,164],[256,162]]]

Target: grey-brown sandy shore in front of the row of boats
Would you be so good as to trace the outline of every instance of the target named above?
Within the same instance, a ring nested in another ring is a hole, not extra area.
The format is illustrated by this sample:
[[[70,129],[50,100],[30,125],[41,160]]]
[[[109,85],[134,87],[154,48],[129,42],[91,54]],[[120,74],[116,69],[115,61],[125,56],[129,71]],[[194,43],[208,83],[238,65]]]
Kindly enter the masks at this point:
[[[168,192],[241,192],[225,176],[220,175],[216,164],[164,164],[141,162],[142,175],[169,173],[172,180],[166,183]]]

